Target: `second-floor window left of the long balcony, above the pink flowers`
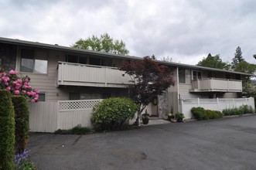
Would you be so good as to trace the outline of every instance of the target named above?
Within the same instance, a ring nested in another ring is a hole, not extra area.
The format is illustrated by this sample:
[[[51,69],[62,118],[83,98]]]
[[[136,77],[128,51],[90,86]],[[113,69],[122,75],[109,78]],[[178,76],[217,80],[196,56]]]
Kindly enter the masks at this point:
[[[34,49],[21,49],[20,71],[27,73],[47,73],[47,53]]]

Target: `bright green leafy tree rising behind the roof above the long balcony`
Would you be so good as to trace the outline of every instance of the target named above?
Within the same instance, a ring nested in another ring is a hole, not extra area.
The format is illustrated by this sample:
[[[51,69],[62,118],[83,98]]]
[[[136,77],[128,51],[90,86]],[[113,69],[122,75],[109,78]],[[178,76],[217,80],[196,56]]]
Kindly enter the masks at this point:
[[[118,39],[112,39],[108,33],[104,33],[100,38],[97,36],[89,36],[87,39],[79,39],[72,46],[80,49],[89,49],[105,53],[123,55],[127,55],[129,53],[128,49],[125,47],[125,42]]]

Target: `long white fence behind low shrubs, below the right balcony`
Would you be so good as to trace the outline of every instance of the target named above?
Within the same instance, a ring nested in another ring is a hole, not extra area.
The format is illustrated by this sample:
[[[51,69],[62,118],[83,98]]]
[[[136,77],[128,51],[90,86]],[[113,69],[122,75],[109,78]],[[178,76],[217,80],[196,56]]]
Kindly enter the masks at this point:
[[[251,106],[254,109],[254,98],[234,98],[234,99],[181,99],[179,100],[179,112],[182,112],[186,118],[191,118],[193,115],[191,109],[193,107],[203,107],[208,110],[222,111],[228,108],[240,107],[242,105]]]

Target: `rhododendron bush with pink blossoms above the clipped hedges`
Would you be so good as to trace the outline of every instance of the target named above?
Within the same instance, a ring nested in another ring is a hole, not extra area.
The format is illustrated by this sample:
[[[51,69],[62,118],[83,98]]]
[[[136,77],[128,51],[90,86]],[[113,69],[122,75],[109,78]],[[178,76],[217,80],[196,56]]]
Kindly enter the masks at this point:
[[[29,86],[29,76],[19,76],[15,70],[9,73],[0,72],[0,89],[9,90],[13,95],[25,96],[28,100],[36,102],[39,90]]]

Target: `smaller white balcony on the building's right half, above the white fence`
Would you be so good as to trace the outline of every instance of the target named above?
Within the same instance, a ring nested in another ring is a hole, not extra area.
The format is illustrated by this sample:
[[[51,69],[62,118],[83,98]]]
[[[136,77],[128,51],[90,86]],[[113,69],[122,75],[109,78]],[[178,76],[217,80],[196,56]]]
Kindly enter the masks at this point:
[[[189,92],[242,92],[242,80],[207,78],[192,81]]]

